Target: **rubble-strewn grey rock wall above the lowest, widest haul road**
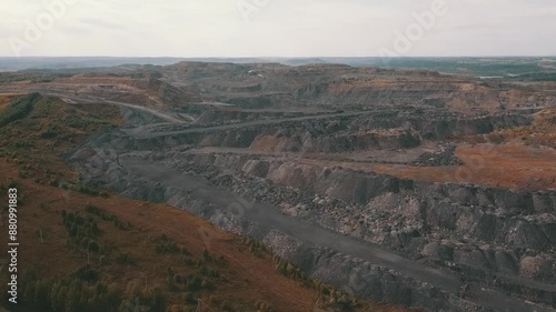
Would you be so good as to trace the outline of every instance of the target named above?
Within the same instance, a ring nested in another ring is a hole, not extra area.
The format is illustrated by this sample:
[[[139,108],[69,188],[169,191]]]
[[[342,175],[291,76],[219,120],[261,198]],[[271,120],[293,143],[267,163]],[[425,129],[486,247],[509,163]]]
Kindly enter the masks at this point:
[[[544,284],[556,282],[556,192],[423,183],[340,168],[316,169],[294,162],[254,160],[248,155],[189,154],[183,159],[189,164],[206,167],[199,171],[210,171],[214,165],[302,188],[310,194],[309,200],[316,194],[322,200],[355,203],[359,210],[356,213],[349,210],[342,213],[338,202],[327,205],[304,201],[309,208],[301,210],[309,211],[305,218],[310,221],[411,258],[424,258],[431,265],[457,270],[475,283],[490,283],[505,292],[545,303],[556,301],[556,292]],[[176,158],[172,162],[180,165]],[[218,179],[211,182],[219,184]],[[226,187],[256,189],[249,183]],[[288,208],[296,207],[299,203],[296,201],[300,200],[288,202]],[[344,215],[351,218],[346,221]],[[344,221],[330,222],[330,219]],[[361,231],[361,228],[386,229]],[[516,279],[528,279],[533,285],[519,285]]]

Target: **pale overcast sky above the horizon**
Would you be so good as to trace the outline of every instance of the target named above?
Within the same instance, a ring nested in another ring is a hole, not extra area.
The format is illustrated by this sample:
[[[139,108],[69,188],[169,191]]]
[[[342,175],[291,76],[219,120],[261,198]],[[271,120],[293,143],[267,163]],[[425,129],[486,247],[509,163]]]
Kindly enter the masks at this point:
[[[555,0],[444,0],[419,33],[434,1],[2,0],[0,56],[556,56]]]

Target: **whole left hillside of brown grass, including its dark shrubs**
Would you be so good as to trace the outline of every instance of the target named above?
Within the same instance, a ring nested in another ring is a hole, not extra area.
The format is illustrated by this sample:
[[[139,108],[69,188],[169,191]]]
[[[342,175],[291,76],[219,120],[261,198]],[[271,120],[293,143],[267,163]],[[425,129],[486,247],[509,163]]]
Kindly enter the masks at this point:
[[[410,311],[312,280],[187,212],[82,184],[61,155],[120,124],[115,107],[10,95],[0,122],[0,201],[18,189],[17,306],[0,285],[9,311]]]

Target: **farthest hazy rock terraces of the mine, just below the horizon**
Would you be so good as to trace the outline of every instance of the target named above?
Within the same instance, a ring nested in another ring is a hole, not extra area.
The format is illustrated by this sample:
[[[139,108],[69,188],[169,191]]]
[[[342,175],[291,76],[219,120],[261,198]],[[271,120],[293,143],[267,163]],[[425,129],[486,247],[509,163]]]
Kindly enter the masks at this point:
[[[338,64],[180,63],[163,69],[202,95],[246,108],[301,105],[360,109],[419,103],[425,108],[469,113],[556,104],[535,85],[476,81],[431,71],[353,68]],[[256,71],[260,76],[250,76]]]

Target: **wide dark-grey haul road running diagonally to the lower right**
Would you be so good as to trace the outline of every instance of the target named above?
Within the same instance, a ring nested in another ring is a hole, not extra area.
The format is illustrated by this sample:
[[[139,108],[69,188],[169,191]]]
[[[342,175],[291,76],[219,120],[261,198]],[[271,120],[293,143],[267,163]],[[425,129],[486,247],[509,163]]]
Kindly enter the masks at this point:
[[[234,207],[230,207],[232,202],[240,201],[249,203],[244,205],[246,209],[241,217],[256,223],[265,231],[280,231],[308,244],[331,248],[340,253],[393,269],[415,280],[429,283],[450,293],[458,293],[461,288],[459,279],[448,272],[428,268],[393,252],[388,252],[375,244],[348,238],[318,225],[302,222],[292,217],[284,215],[269,204],[249,202],[245,199],[240,199],[232,192],[209,185],[192,175],[182,174],[177,170],[143,160],[120,160],[120,164],[130,172],[161,183],[167,188],[189,191],[195,198],[210,202],[215,205],[215,209],[220,209],[225,212],[237,214]],[[495,311],[553,311],[488,289],[471,289],[468,292],[468,300],[481,306],[492,308]]]

